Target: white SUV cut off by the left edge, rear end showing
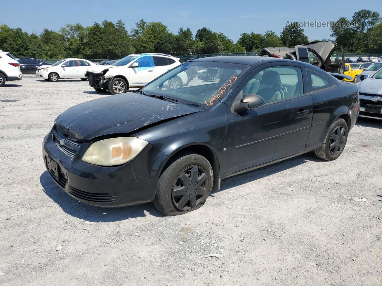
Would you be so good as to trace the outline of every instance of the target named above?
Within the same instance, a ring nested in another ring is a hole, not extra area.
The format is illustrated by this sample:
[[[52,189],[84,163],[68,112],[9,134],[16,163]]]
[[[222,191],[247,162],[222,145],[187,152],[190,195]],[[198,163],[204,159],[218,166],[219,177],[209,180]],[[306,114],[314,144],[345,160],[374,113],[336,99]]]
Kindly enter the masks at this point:
[[[23,79],[23,73],[20,71],[20,64],[13,56],[3,50],[0,50],[0,87],[5,82],[11,80]]]

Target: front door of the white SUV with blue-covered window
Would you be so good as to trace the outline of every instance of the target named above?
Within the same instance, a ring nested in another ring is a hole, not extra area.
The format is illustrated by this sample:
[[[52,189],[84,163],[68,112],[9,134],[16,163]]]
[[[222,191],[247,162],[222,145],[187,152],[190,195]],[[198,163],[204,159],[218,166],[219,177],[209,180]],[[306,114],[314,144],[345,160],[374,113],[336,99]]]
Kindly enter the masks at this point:
[[[154,79],[154,60],[151,55],[138,57],[133,63],[138,67],[129,67],[129,86],[142,87]]]

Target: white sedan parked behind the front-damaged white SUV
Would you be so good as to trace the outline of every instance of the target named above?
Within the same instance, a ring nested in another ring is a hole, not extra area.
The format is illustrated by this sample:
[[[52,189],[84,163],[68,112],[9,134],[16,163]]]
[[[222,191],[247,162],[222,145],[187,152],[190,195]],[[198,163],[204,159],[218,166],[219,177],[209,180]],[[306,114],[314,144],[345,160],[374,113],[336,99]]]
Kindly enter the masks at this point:
[[[92,66],[95,64],[86,59],[60,59],[50,66],[38,67],[36,77],[51,82],[57,82],[58,79],[86,80],[86,69]]]

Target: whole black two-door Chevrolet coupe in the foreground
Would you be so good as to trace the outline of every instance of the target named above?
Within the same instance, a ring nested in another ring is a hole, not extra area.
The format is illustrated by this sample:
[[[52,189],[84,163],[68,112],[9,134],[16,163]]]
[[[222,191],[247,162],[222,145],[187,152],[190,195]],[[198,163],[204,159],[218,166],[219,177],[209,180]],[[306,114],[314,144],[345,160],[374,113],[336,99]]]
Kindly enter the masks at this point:
[[[208,80],[196,71],[209,72]],[[169,81],[193,74],[188,85]],[[259,56],[195,59],[144,87],[73,106],[43,140],[45,167],[95,206],[201,207],[220,181],[309,151],[337,159],[358,117],[355,84],[308,63]]]

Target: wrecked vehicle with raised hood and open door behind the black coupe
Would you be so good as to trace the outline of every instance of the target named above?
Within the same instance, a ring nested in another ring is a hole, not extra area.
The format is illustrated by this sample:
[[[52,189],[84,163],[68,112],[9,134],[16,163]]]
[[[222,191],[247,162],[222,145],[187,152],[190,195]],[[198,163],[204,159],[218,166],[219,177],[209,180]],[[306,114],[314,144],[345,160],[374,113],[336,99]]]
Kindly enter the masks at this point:
[[[302,61],[336,74],[343,74],[345,69],[343,47],[333,42],[311,42],[294,48],[263,48],[259,56]]]

